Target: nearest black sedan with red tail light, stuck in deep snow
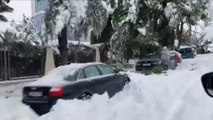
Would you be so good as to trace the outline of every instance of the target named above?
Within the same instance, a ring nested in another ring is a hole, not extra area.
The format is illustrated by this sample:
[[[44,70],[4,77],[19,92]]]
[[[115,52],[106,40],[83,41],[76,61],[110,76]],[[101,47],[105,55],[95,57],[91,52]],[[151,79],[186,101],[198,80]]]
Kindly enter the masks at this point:
[[[39,115],[49,112],[58,99],[89,99],[93,94],[112,97],[130,81],[103,63],[60,66],[23,88],[23,103]]]

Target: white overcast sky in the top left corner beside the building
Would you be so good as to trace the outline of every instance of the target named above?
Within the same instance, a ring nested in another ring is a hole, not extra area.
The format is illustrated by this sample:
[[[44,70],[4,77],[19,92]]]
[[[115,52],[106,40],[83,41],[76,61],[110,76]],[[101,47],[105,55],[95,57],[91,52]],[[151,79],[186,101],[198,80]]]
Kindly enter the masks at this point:
[[[31,16],[31,0],[10,0],[9,6],[14,9],[13,13],[4,13],[9,21],[14,19],[20,21],[23,18],[23,14]],[[4,31],[8,26],[8,23],[0,22],[0,30]]]

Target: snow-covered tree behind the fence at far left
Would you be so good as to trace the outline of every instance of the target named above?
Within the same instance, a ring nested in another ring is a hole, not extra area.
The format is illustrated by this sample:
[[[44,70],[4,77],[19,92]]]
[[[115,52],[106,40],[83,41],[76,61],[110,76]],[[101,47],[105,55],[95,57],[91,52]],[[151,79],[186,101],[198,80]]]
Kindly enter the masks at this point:
[[[23,15],[23,20],[11,21],[10,26],[4,33],[5,42],[24,42],[32,45],[39,44],[36,38],[37,30],[29,17]]]

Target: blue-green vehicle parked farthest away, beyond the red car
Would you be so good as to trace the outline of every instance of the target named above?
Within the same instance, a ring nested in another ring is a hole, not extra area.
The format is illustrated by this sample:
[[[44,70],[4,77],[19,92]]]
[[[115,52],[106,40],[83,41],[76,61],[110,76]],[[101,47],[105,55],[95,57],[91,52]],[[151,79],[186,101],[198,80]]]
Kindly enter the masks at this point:
[[[194,58],[196,56],[195,49],[190,46],[180,48],[179,52],[181,53],[183,59]]]

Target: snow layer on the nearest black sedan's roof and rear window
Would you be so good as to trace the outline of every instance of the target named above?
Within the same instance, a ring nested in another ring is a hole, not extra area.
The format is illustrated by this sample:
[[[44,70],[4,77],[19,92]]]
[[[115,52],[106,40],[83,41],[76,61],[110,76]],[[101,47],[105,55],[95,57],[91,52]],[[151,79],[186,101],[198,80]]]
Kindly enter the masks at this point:
[[[70,81],[64,80],[65,77],[69,75],[74,75],[75,72],[80,70],[81,68],[84,68],[90,65],[97,65],[97,64],[103,64],[103,63],[98,63],[98,62],[72,63],[69,65],[59,66],[58,68],[51,70],[47,75],[31,83],[30,86],[54,86],[54,85],[66,84],[66,83],[69,83]]]

